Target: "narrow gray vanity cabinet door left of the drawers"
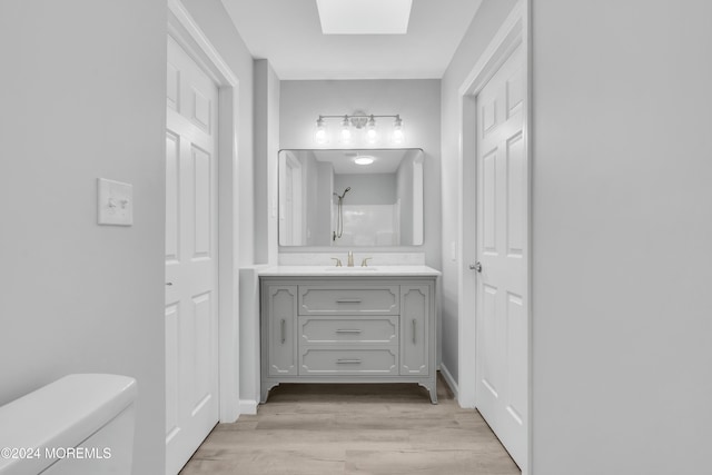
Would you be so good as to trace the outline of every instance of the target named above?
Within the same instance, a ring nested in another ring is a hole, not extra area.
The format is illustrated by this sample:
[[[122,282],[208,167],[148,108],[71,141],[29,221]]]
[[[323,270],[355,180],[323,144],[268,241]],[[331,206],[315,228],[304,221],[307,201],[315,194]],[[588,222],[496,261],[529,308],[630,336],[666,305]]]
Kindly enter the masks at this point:
[[[297,374],[297,286],[267,286],[269,375]]]

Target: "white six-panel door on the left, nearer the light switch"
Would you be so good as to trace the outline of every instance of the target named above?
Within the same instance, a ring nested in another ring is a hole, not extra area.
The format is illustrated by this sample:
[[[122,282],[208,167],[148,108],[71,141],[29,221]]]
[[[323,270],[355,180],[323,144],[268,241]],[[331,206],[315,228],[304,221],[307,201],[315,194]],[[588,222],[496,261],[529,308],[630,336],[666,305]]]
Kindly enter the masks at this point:
[[[216,83],[168,37],[166,473],[218,422]]]

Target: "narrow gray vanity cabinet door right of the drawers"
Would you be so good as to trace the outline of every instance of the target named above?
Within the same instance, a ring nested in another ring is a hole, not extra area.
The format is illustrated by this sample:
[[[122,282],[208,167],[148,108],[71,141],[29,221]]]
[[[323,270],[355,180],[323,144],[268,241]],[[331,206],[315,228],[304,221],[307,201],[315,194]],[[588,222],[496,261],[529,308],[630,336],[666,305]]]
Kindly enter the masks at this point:
[[[431,288],[400,286],[400,375],[429,374]]]

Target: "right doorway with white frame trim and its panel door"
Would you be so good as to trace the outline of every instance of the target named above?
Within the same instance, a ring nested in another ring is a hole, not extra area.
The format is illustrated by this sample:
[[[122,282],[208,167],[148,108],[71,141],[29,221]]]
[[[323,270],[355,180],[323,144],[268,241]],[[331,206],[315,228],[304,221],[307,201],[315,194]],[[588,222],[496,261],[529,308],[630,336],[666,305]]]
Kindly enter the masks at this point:
[[[479,409],[525,474],[532,429],[528,44],[523,0],[459,89],[458,399]]]

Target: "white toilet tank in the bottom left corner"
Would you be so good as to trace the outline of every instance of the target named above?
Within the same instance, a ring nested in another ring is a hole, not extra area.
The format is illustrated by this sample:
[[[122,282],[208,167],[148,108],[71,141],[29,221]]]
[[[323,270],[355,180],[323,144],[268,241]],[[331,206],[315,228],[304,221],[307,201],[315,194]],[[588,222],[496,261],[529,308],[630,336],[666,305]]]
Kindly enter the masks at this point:
[[[136,379],[69,375],[0,407],[0,475],[130,475]]]

